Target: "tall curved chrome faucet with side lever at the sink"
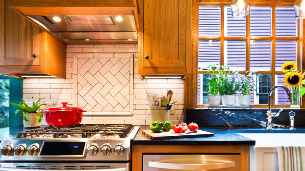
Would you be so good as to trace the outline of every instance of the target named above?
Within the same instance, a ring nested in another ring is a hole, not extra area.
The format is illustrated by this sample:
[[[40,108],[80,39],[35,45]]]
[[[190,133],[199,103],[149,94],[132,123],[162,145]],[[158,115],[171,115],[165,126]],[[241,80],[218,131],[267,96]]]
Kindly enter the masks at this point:
[[[271,101],[271,95],[273,93],[273,91],[276,89],[276,88],[284,88],[286,93],[287,93],[287,96],[288,96],[288,99],[287,99],[287,102],[291,102],[291,95],[290,95],[290,92],[288,90],[287,87],[283,86],[283,85],[276,85],[274,87],[271,88],[269,94],[268,94],[268,110],[267,110],[267,126],[266,126],[266,129],[273,129],[272,128],[272,123],[271,123],[271,120],[272,118],[271,117],[277,117],[280,115],[281,111],[283,111],[283,108],[280,108],[280,111],[278,113],[272,113],[271,110],[270,110],[270,101]]]

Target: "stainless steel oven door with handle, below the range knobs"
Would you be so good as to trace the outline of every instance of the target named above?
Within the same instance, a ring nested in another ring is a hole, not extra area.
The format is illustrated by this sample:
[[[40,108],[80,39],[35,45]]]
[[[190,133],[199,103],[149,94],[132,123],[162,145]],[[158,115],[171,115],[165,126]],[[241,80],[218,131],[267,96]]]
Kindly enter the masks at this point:
[[[130,171],[130,163],[0,163],[0,171],[29,171],[29,169]]]

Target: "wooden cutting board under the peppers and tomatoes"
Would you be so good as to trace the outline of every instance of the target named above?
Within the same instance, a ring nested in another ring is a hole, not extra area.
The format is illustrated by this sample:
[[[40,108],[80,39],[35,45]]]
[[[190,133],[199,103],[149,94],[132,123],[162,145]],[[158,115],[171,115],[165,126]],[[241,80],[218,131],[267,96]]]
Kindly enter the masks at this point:
[[[173,139],[173,138],[193,138],[193,137],[214,136],[214,133],[209,133],[201,130],[197,130],[196,133],[188,133],[188,134],[175,133],[173,129],[167,132],[163,131],[162,133],[153,133],[151,130],[143,130],[142,133],[151,139]]]

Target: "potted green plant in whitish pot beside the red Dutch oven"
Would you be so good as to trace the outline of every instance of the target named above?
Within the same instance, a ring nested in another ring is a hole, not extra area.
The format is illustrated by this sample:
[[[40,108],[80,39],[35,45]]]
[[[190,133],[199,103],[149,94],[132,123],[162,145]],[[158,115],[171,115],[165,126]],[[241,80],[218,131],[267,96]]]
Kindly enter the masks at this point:
[[[33,105],[32,107],[29,107],[27,104],[25,104],[24,99],[22,98],[22,102],[19,104],[17,103],[11,103],[12,105],[18,106],[19,108],[16,110],[15,114],[23,112],[22,113],[22,118],[24,120],[24,127],[25,128],[33,128],[33,127],[40,127],[41,126],[41,119],[43,118],[43,113],[39,111],[39,109],[43,110],[42,105],[46,104],[38,104],[39,101],[44,98],[40,98],[37,100],[37,102],[34,102],[34,98],[32,97],[33,100]]]

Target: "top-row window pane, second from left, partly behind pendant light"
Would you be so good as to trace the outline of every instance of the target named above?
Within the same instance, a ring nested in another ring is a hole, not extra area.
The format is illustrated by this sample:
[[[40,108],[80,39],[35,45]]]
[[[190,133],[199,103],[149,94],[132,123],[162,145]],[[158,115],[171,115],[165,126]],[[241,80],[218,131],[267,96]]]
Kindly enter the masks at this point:
[[[246,36],[246,18],[232,18],[230,7],[225,7],[225,36]]]

